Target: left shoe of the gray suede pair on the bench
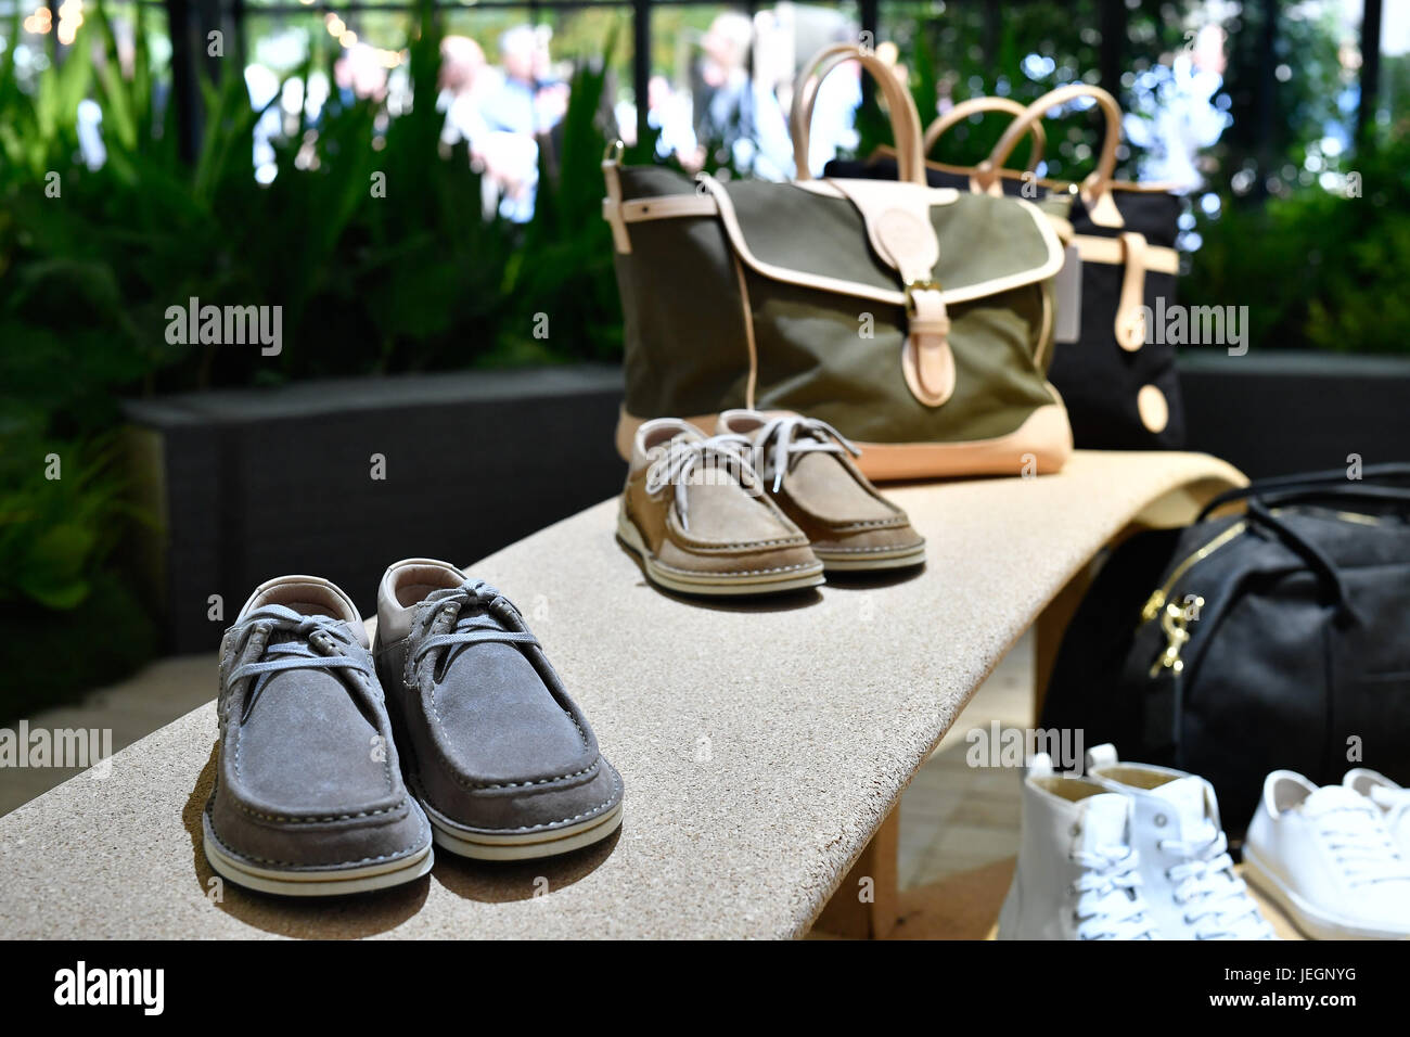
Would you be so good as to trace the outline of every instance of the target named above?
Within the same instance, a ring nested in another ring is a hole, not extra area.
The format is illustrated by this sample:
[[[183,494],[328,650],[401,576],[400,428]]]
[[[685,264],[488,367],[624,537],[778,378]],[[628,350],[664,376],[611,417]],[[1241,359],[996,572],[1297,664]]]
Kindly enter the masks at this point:
[[[316,576],[261,584],[220,646],[206,859],[264,893],[337,896],[430,871],[362,619]]]

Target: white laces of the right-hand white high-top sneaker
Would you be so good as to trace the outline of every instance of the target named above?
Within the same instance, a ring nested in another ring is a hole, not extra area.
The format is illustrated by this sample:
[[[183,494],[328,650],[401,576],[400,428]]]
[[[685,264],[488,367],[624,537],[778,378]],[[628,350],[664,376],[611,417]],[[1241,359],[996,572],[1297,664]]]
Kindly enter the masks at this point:
[[[1273,927],[1259,913],[1244,879],[1234,873],[1228,838],[1213,824],[1208,830],[1190,839],[1156,844],[1180,858],[1166,875],[1175,882],[1175,902],[1189,906],[1184,921],[1196,927],[1196,940],[1272,940]]]

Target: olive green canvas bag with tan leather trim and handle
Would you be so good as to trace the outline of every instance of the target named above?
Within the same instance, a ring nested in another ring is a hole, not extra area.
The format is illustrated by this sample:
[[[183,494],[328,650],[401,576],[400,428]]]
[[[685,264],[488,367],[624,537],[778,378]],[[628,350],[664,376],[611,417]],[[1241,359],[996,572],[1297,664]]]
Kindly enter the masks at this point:
[[[898,181],[808,176],[818,83],[845,61],[891,116]],[[798,76],[798,179],[689,181],[603,162],[626,317],[618,449],[647,419],[713,429],[729,408],[821,418],[873,478],[1056,471],[1072,453],[1048,384],[1055,224],[1022,199],[931,188],[919,116],[870,52],[838,44]]]

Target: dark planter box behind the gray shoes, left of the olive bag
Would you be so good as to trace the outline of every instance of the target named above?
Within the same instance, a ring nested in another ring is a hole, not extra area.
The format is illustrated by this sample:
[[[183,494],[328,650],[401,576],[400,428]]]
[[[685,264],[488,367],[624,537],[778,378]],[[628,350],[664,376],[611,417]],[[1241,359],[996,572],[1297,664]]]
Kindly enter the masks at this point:
[[[620,371],[594,365],[127,404],[137,490],[161,525],[134,560],[165,650],[216,648],[271,576],[324,576],[369,614],[391,562],[465,563],[612,495],[620,399]]]

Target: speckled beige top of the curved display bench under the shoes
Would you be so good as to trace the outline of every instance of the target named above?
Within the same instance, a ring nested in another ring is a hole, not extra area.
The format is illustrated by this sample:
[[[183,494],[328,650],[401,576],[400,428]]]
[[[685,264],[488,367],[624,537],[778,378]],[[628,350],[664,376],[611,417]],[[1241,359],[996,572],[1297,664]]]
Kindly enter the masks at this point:
[[[365,897],[219,890],[200,851],[209,704],[118,753],[107,777],[0,818],[0,933],[799,935],[1067,578],[1152,502],[1187,521],[1238,481],[1198,454],[1079,453],[1060,475],[895,488],[929,540],[922,573],[754,605],[653,590],[603,502],[472,571],[526,614],[622,772],[618,837],[508,866],[437,854],[426,879]]]

